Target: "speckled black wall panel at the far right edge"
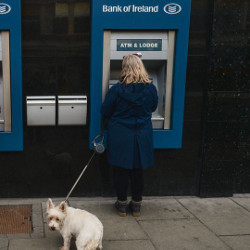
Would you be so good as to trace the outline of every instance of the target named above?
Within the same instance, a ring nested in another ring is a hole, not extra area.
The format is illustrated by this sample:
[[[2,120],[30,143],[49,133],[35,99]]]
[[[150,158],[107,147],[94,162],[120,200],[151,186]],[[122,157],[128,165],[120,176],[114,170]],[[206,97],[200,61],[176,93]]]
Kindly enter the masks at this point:
[[[249,1],[214,0],[201,196],[250,192]]]

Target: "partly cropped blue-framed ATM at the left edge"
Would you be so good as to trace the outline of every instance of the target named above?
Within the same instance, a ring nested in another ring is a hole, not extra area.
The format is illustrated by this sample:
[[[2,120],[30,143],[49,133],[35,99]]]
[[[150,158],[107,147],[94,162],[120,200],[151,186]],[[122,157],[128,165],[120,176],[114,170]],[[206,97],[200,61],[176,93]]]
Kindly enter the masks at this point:
[[[20,1],[0,3],[0,151],[23,149]]]

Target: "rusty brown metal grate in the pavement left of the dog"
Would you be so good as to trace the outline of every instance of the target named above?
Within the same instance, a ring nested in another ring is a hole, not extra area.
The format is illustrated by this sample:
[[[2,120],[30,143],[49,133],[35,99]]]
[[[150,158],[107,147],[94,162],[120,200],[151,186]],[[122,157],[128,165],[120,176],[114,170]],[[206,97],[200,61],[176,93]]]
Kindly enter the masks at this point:
[[[31,205],[0,206],[0,234],[32,233]]]

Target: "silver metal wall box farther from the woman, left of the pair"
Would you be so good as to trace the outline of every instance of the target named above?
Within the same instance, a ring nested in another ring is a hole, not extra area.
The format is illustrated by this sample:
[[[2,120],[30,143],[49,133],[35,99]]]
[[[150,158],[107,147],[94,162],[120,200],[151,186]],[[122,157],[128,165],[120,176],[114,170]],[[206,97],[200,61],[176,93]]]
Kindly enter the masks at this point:
[[[56,125],[55,96],[27,96],[26,104],[28,126]]]

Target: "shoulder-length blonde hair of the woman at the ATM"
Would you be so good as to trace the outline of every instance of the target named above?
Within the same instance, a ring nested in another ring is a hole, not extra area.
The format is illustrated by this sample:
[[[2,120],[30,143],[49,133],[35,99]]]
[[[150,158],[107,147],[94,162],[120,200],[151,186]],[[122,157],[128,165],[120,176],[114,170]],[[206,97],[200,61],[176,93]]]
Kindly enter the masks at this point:
[[[142,60],[137,55],[127,55],[123,57],[122,71],[119,76],[122,83],[151,83],[148,73]]]

